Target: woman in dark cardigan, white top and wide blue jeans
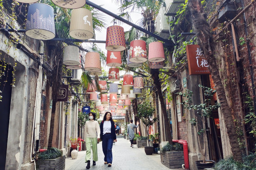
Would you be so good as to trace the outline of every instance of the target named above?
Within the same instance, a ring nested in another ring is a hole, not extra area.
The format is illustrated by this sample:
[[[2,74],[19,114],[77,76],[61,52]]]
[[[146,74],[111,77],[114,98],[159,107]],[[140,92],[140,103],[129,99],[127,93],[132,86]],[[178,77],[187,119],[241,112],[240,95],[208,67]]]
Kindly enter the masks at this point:
[[[106,112],[103,121],[100,123],[100,137],[102,139],[102,150],[104,153],[104,164],[108,167],[112,166],[112,147],[113,142],[117,142],[117,135],[115,133],[115,125],[110,112]]]

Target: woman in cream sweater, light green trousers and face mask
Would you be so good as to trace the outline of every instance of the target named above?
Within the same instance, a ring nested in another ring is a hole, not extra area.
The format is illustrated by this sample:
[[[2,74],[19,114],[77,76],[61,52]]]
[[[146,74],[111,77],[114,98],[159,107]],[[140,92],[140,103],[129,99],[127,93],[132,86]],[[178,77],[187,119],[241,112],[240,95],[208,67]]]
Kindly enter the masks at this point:
[[[85,163],[87,163],[86,169],[90,169],[90,159],[92,150],[92,165],[96,165],[98,161],[97,143],[100,140],[100,125],[98,121],[95,121],[96,114],[89,113],[89,121],[85,123],[85,142],[86,142],[86,156]]]

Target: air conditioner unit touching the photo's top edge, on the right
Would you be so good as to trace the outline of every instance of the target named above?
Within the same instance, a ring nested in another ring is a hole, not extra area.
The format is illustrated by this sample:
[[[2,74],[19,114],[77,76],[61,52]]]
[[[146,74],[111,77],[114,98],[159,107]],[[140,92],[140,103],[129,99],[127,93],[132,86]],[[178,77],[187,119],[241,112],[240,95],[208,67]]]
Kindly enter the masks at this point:
[[[167,16],[175,16],[181,8],[181,3],[185,3],[185,0],[164,0],[164,2],[166,4],[165,14]]]

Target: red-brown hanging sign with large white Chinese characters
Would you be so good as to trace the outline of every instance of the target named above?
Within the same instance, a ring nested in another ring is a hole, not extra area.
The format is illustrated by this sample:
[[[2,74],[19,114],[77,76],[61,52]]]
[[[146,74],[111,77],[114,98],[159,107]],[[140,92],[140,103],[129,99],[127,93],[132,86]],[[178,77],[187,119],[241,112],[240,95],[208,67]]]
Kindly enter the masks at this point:
[[[187,45],[189,75],[210,74],[209,65],[201,53],[199,45]]]

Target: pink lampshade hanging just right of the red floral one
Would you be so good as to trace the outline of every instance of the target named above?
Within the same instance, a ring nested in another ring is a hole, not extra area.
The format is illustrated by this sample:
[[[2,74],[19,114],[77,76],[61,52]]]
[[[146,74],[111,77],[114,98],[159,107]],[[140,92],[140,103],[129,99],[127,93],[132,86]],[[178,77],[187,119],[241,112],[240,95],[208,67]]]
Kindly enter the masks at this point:
[[[161,62],[165,60],[164,46],[162,42],[150,42],[149,43],[149,61]]]

